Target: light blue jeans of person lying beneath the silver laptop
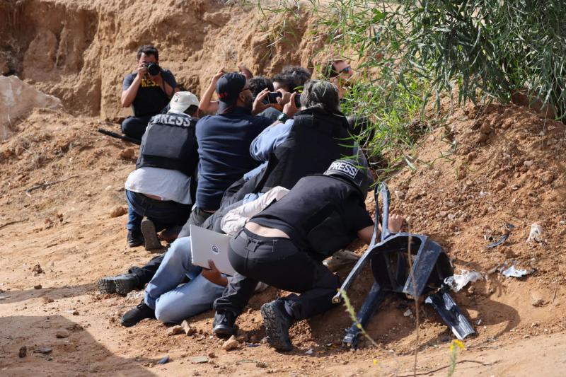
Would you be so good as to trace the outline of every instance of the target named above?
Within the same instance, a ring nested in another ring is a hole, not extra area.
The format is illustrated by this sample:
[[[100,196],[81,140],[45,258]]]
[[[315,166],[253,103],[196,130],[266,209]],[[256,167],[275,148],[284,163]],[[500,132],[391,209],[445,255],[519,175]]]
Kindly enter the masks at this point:
[[[224,286],[210,282],[201,271],[201,267],[191,262],[190,237],[173,241],[145,291],[144,302],[154,309],[158,320],[180,323],[212,309],[212,303],[221,296]],[[181,284],[185,277],[190,281]]]

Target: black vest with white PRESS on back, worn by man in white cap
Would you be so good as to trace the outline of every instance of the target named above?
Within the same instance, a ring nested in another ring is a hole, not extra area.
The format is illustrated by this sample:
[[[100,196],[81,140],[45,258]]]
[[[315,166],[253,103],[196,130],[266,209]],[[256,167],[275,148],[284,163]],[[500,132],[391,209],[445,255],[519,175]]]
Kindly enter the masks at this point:
[[[189,115],[158,114],[151,117],[141,138],[136,168],[143,166],[178,170],[191,177],[199,160],[196,120]]]

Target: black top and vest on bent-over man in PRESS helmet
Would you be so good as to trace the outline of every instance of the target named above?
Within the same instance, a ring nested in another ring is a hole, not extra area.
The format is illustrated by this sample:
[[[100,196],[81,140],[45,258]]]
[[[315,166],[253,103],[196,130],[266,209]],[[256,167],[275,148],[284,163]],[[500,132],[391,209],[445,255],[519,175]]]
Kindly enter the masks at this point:
[[[338,221],[328,221],[330,217]],[[329,253],[345,247],[357,238],[357,232],[374,225],[366,211],[364,201],[354,187],[340,178],[327,175],[307,175],[283,197],[259,214],[251,222],[275,228],[287,233],[289,238],[301,248],[314,248],[312,233],[314,228],[326,221],[327,226],[320,229],[316,238],[330,241]],[[309,233],[311,233],[309,240]],[[340,236],[338,236],[340,235]],[[347,238],[345,240],[345,238]]]

